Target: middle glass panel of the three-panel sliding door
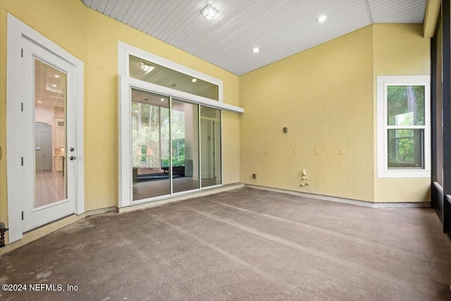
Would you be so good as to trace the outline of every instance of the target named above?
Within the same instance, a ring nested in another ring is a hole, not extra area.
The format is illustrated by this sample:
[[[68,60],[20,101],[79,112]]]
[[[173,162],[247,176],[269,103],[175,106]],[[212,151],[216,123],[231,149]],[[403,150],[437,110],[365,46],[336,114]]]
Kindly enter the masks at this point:
[[[171,109],[173,193],[198,189],[198,105],[173,99]]]

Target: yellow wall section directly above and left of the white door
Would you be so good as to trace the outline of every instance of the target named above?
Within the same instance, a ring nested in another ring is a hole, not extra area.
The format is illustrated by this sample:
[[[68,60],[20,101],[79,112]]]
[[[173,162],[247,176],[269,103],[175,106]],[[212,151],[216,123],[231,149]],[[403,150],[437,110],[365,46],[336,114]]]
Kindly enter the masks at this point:
[[[0,1],[0,221],[8,221],[6,190],[6,32],[9,12],[79,59],[85,58],[85,6],[79,1]],[[70,33],[70,35],[68,35]],[[20,200],[17,200],[20,201]]]

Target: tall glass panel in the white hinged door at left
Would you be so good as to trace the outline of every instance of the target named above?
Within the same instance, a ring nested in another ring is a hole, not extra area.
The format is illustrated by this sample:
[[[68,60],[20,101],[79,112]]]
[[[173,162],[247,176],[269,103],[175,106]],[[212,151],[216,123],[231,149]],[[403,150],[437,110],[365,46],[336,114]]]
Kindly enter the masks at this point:
[[[66,73],[35,59],[34,208],[67,199]]]

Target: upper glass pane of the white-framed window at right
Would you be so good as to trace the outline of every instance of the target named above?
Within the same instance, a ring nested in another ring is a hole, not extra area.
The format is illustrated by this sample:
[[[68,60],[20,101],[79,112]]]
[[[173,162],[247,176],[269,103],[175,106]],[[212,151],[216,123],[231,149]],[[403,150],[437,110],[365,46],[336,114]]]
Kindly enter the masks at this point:
[[[388,125],[424,125],[424,98],[424,86],[388,86]]]

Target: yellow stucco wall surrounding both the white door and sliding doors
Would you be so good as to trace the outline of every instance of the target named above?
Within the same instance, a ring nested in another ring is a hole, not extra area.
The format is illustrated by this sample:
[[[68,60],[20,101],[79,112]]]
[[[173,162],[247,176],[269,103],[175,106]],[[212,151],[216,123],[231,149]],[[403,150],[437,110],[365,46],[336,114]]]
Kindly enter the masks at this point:
[[[0,221],[7,221],[6,13],[85,63],[85,210],[118,204],[117,42],[131,44],[223,80],[224,102],[239,105],[239,78],[202,59],[87,8],[80,0],[0,1]],[[223,114],[223,183],[240,182],[240,120]]]

